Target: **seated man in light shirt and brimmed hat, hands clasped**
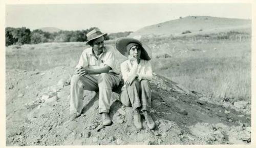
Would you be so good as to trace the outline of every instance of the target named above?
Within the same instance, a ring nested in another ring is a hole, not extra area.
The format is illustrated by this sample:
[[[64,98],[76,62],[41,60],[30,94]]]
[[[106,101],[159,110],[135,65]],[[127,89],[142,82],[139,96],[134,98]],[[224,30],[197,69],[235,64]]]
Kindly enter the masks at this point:
[[[86,45],[90,48],[82,52],[76,74],[71,78],[70,121],[76,119],[82,110],[83,90],[99,91],[99,113],[102,114],[102,125],[112,123],[109,110],[112,89],[121,81],[115,69],[114,47],[104,46],[104,37],[98,28],[87,34]]]

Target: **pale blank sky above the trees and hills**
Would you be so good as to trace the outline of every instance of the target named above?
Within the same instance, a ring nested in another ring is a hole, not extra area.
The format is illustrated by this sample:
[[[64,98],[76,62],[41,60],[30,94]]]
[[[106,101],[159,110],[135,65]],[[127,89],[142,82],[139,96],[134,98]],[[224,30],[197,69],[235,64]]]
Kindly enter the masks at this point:
[[[6,26],[98,27],[104,33],[138,29],[185,16],[251,19],[250,4],[37,4],[6,5]]]

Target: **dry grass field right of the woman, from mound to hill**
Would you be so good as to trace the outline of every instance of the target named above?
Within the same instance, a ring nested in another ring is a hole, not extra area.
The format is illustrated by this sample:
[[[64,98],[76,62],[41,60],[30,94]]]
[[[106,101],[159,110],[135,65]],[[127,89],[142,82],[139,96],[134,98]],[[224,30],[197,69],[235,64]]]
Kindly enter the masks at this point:
[[[152,46],[159,56],[153,58],[153,68],[160,75],[220,101],[250,100],[250,40],[166,41]],[[172,57],[160,56],[165,53]]]

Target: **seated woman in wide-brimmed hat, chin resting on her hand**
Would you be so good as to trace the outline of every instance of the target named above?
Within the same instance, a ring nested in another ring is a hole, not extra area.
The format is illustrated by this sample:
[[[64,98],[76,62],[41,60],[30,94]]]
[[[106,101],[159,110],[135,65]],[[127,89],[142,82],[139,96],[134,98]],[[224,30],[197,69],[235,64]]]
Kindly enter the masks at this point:
[[[145,116],[148,128],[153,129],[155,122],[150,115],[151,109],[151,86],[153,78],[150,64],[150,48],[139,40],[133,38],[119,38],[116,41],[118,51],[128,57],[121,64],[124,86],[121,93],[121,102],[126,106],[133,107],[134,124],[136,128],[142,128],[140,110]]]

